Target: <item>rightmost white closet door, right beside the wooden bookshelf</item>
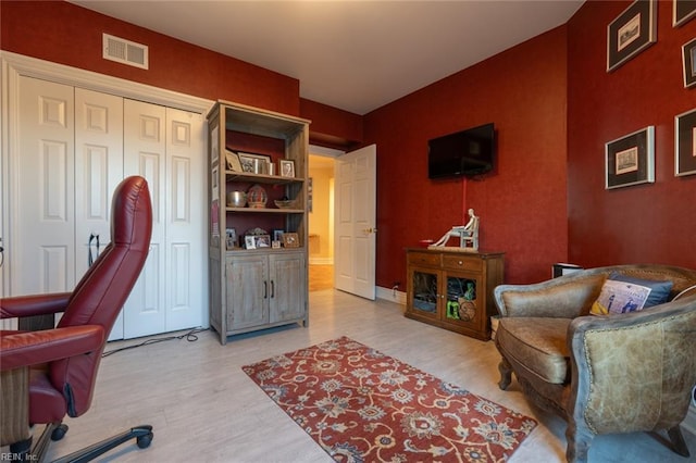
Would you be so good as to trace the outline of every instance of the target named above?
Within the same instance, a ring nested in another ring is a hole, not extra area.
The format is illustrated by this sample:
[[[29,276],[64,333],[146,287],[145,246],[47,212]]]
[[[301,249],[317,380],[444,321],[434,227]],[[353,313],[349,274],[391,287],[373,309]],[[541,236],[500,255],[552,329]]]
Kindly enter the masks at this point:
[[[206,305],[203,116],[166,109],[166,330],[202,325]]]

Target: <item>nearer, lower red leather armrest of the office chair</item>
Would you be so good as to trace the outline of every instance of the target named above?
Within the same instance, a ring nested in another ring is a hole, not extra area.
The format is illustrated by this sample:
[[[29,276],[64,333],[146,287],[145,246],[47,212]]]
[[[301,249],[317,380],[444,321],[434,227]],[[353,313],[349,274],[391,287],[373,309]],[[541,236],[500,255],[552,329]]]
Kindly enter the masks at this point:
[[[99,325],[5,331],[0,338],[0,370],[4,372],[88,353],[101,349],[104,337],[104,329]]]

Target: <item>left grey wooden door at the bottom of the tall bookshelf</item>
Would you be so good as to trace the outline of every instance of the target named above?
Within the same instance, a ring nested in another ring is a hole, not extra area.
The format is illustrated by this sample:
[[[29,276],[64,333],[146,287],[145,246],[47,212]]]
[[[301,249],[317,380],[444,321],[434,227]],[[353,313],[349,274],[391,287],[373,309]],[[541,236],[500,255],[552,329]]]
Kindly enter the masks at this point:
[[[269,323],[269,265],[265,254],[227,258],[227,330]]]

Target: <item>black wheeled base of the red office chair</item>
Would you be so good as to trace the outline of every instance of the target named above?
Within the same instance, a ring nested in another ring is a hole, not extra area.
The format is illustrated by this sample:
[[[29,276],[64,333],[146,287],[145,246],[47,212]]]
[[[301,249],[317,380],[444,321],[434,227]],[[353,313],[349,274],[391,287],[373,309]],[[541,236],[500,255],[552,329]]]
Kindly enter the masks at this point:
[[[13,443],[10,447],[10,451],[13,453],[15,461],[27,462],[44,462],[46,459],[46,452],[48,446],[52,440],[60,440],[67,431],[67,426],[62,423],[50,423],[46,425],[46,429],[37,440],[34,448],[29,452],[32,446],[32,438],[22,442]],[[57,438],[54,438],[57,437]],[[100,442],[94,443],[89,447],[85,447],[76,452],[65,455],[53,463],[85,463],[95,460],[97,456],[114,449],[122,443],[127,442],[130,439],[136,439],[136,445],[139,449],[146,449],[150,447],[154,434],[152,433],[152,426],[142,425],[132,427],[116,436],[104,439]]]

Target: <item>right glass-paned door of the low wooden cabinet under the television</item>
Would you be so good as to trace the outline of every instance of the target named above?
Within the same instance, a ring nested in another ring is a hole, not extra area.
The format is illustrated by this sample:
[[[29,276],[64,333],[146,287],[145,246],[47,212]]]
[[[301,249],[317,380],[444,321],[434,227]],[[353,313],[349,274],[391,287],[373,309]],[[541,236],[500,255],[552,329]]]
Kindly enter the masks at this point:
[[[445,272],[440,293],[443,300],[442,320],[471,329],[478,329],[485,316],[485,288],[477,274]]]

